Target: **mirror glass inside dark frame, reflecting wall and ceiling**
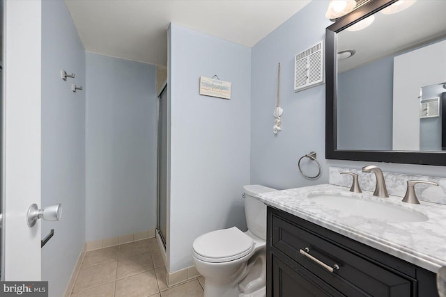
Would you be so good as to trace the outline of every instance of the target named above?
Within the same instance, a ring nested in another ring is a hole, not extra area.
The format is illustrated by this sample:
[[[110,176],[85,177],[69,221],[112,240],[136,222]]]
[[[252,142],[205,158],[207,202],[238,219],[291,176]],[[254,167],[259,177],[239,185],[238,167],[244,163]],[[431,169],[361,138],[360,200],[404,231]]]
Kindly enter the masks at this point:
[[[337,34],[338,150],[446,150],[445,11],[398,1]]]

